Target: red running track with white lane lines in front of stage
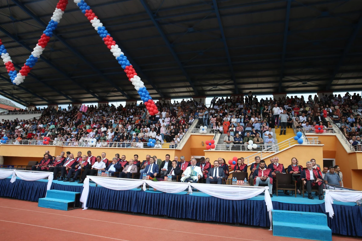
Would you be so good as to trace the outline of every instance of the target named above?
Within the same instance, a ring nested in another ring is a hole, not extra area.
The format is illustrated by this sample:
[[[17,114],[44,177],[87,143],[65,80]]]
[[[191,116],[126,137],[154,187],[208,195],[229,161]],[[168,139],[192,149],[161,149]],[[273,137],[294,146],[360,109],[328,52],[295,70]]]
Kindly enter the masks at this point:
[[[7,198],[0,198],[0,214],[1,241],[305,241],[273,236],[272,231],[263,228],[198,223],[81,208],[61,211],[38,207],[37,202]],[[332,239],[357,240],[339,236],[333,236]]]

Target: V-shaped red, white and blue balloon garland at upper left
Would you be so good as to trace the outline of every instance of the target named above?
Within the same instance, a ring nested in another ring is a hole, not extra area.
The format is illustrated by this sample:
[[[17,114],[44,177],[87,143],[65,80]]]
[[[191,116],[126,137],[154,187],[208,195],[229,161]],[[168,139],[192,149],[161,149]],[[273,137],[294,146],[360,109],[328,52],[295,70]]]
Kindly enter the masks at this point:
[[[24,82],[25,77],[28,76],[30,70],[38,62],[38,58],[42,55],[45,47],[49,42],[49,39],[53,36],[53,31],[56,29],[60,19],[63,17],[67,4],[68,0],[59,0],[58,4],[56,4],[56,8],[53,12],[53,16],[50,18],[51,20],[49,21],[48,26],[43,31],[43,34],[38,40],[37,46],[34,47],[33,52],[31,52],[31,55],[24,63],[24,66],[21,67],[19,72],[15,70],[13,61],[11,60],[9,53],[0,40],[1,59],[3,59],[5,68],[7,69],[11,82],[14,85],[20,85],[20,83]]]

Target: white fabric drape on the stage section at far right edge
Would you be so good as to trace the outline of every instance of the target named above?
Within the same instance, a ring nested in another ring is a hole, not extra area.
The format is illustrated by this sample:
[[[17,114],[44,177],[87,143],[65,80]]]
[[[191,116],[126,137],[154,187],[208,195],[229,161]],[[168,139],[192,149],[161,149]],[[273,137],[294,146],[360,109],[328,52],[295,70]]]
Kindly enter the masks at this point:
[[[362,199],[362,191],[338,191],[338,190],[324,190],[324,204],[325,212],[329,213],[329,217],[333,218],[333,200],[340,202],[357,202]]]

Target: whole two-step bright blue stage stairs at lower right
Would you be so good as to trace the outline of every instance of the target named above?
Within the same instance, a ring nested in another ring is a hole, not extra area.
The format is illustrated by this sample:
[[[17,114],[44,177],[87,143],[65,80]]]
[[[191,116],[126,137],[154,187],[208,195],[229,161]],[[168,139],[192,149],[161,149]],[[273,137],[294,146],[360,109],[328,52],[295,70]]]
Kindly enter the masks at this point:
[[[332,241],[327,215],[273,210],[273,236]]]

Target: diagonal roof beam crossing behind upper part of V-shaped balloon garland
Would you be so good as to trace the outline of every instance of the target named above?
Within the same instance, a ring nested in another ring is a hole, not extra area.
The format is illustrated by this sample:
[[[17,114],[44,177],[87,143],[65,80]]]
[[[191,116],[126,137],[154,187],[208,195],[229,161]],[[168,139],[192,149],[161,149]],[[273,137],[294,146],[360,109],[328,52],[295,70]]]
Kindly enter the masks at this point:
[[[33,20],[35,20],[39,25],[46,27],[47,24],[45,22],[43,22],[38,16],[36,16],[33,12],[31,12],[27,7],[25,7],[24,4],[22,4],[19,0],[12,0],[13,3],[15,3],[19,8],[21,8],[21,10],[23,10],[26,14],[28,14]],[[87,63],[93,70],[95,70],[99,76],[103,77],[107,82],[109,82],[111,84],[111,86],[113,86],[115,89],[117,89],[119,92],[121,92],[127,99],[130,99],[130,96],[127,95],[119,86],[117,86],[111,79],[109,79],[108,77],[104,76],[103,73],[92,63],[90,63],[90,61],[88,61],[87,59],[85,59],[85,57],[83,55],[81,55],[75,48],[73,48],[72,46],[70,46],[70,44],[68,44],[66,42],[65,39],[63,39],[62,36],[57,36],[56,34],[53,34],[55,38],[57,38],[62,44],[64,44],[64,46],[66,46],[67,48],[69,48],[76,56],[78,56],[81,60],[83,60],[85,63]],[[60,70],[60,69],[59,69]],[[66,74],[66,73],[65,73]],[[66,74],[67,75],[67,74]],[[101,100],[98,96],[94,96],[96,97],[98,100]]]

